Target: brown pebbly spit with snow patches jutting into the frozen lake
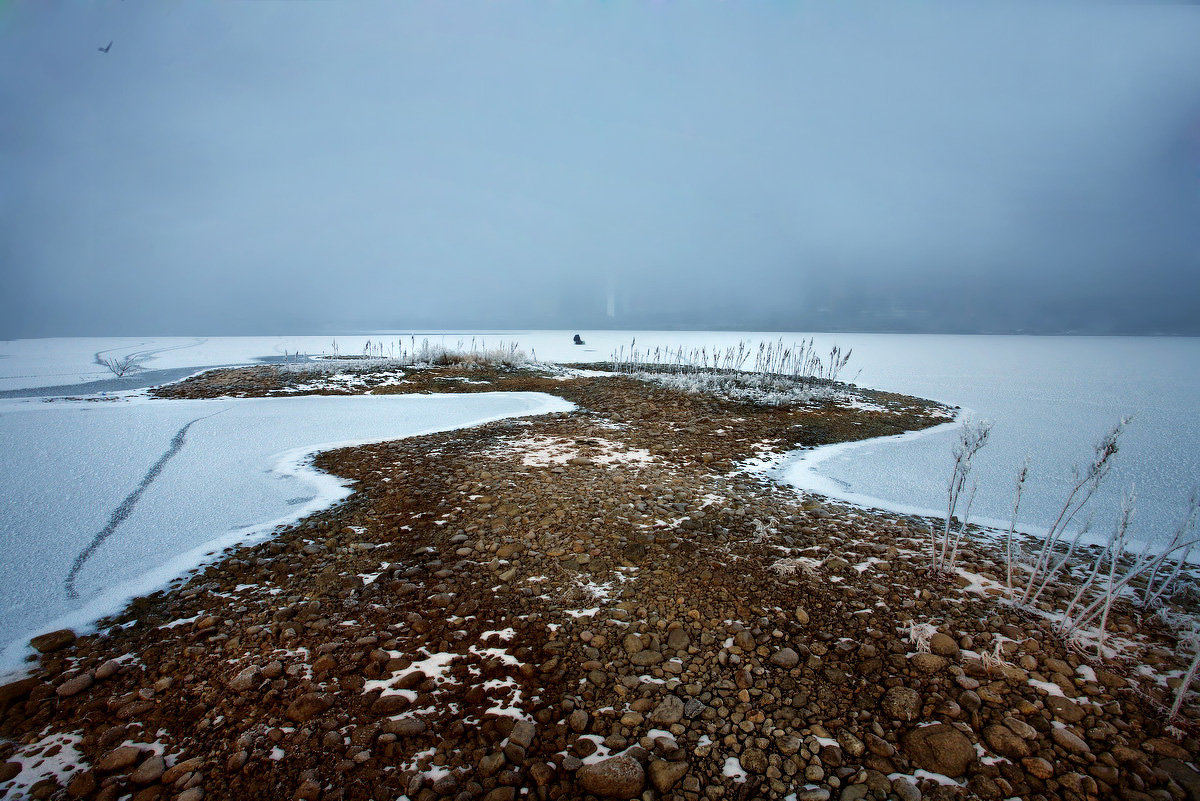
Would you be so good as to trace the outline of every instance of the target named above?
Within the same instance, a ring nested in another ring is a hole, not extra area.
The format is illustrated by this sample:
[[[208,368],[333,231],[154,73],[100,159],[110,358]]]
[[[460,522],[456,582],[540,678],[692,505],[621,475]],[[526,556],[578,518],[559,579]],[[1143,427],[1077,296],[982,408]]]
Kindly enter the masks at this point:
[[[919,522],[752,466],[937,404],[454,368],[156,393],[496,390],[578,410],[325,453],[347,502],[35,642],[0,688],[0,797],[1200,800],[1156,621],[1118,608],[1136,652],[1090,661],[1000,602],[985,546],[935,580]]]

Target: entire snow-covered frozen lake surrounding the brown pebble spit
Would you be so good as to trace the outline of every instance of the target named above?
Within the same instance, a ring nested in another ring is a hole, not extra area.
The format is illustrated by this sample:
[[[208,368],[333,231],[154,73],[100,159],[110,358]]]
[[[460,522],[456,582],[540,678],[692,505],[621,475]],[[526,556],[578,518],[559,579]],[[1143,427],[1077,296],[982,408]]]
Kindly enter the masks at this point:
[[[992,422],[977,459],[974,517],[1007,524],[1015,472],[1026,454],[1031,480],[1020,523],[1049,524],[1074,465],[1123,415],[1134,414],[1096,507],[1111,526],[1121,493],[1135,484],[1134,534],[1160,538],[1200,481],[1200,339],[808,335],[762,332],[580,331],[376,332],[356,336],[26,339],[0,343],[0,393],[64,395],[112,379],[97,354],[145,354],[148,371],[174,375],[251,363],[284,353],[384,353],[434,344],[517,343],[542,361],[599,362],[618,348],[715,348],[739,341],[815,336],[818,351],[853,348],[842,375],[864,386],[961,405]],[[131,386],[133,381],[116,381]],[[107,386],[107,385],[106,385]],[[37,387],[54,387],[38,390]],[[343,492],[295,469],[287,452],[346,440],[380,440],[558,410],[545,396],[281,398],[229,402],[104,403],[0,401],[0,459],[7,558],[0,564],[0,644],[54,625],[83,625],[134,594],[161,586],[214,549],[259,536],[325,506]],[[221,414],[206,417],[214,411]],[[80,554],[114,510],[192,420],[179,452],[78,570]],[[954,427],[899,440],[809,451],[776,475],[803,489],[901,512],[943,512]],[[281,462],[283,459],[283,462]],[[290,466],[289,466],[290,465]],[[67,595],[71,576],[78,598]],[[66,616],[65,616],[66,615]],[[18,644],[19,645],[19,644]],[[0,667],[20,657],[10,648]]]

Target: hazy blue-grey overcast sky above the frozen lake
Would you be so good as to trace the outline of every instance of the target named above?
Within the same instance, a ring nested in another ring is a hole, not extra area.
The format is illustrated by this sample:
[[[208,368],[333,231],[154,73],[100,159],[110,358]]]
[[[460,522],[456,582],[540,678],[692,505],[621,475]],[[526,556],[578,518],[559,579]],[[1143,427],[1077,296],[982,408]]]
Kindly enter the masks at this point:
[[[1200,6],[2,4],[0,269],[6,338],[1200,333]]]

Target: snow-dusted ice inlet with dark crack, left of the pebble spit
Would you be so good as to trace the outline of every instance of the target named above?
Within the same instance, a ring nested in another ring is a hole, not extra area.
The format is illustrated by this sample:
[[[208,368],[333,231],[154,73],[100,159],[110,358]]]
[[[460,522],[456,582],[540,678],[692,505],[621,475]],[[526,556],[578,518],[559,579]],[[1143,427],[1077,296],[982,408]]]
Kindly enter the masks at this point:
[[[85,626],[344,498],[306,466],[314,451],[571,408],[539,393],[0,402],[0,670],[30,634]]]

